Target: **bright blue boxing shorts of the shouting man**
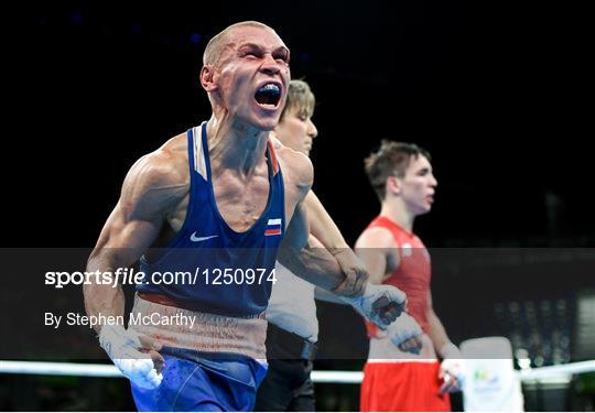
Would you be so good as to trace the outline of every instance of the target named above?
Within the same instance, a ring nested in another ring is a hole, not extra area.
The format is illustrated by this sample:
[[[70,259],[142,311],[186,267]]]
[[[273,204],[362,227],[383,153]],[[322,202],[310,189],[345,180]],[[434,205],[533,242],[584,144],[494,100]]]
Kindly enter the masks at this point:
[[[156,389],[130,383],[137,409],[145,411],[247,412],[267,374],[266,365],[240,355],[163,347],[163,381]]]

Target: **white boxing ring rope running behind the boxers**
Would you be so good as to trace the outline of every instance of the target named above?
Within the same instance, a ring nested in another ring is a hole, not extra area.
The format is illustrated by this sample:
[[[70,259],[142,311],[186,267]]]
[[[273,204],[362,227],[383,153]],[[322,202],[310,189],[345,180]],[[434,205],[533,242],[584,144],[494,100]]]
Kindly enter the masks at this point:
[[[541,381],[550,378],[595,371],[595,360],[578,361],[567,365],[548,366],[536,369],[516,371],[521,381]],[[46,376],[82,376],[101,378],[123,378],[113,365],[105,363],[72,363],[46,361],[10,361],[0,360],[0,373],[8,374],[46,374]],[[361,371],[312,371],[312,381],[315,383],[359,384],[364,373]]]

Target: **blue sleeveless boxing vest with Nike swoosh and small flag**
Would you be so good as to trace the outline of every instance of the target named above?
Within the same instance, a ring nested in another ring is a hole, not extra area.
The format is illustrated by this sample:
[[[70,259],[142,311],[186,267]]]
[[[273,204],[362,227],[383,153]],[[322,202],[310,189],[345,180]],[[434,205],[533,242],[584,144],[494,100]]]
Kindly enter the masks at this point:
[[[285,230],[283,175],[272,144],[267,148],[269,198],[264,211],[250,229],[236,232],[215,202],[206,122],[190,129],[187,138],[191,187],[186,219],[154,262],[141,258],[144,278],[137,292],[161,294],[183,308],[203,313],[259,315],[268,305],[277,249]],[[181,275],[172,276],[176,272]]]

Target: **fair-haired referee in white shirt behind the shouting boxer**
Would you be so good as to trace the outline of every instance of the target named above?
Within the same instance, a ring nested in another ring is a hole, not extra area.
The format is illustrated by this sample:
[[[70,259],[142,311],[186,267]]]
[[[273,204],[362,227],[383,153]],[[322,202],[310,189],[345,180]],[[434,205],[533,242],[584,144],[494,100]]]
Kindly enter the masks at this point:
[[[291,80],[288,101],[279,124],[273,130],[278,144],[310,155],[317,129],[312,121],[315,97],[310,85]],[[351,267],[346,273],[365,270],[340,235],[315,194],[311,191],[304,200],[309,211],[310,243],[314,248],[333,251],[340,264]],[[367,275],[367,273],[366,273]],[[364,276],[357,282],[363,282]],[[314,387],[310,378],[312,359],[318,337],[318,320],[314,297],[350,304],[326,290],[296,276],[282,264],[277,264],[267,319],[267,358],[269,370],[257,394],[257,411],[314,411]],[[404,300],[404,294],[402,295]],[[403,302],[401,302],[403,304]],[[400,308],[393,308],[394,315]],[[403,334],[403,341],[410,336]]]

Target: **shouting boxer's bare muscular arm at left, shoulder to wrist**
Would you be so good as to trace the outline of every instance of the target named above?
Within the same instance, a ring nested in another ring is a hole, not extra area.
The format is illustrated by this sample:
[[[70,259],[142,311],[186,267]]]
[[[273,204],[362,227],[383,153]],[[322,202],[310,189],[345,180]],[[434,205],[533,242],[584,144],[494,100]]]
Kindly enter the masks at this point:
[[[87,271],[115,272],[133,264],[158,237],[164,217],[185,193],[166,153],[142,157],[128,173],[118,205],[93,250]],[[84,285],[88,315],[122,315],[121,286]],[[95,327],[100,333],[101,326]]]

